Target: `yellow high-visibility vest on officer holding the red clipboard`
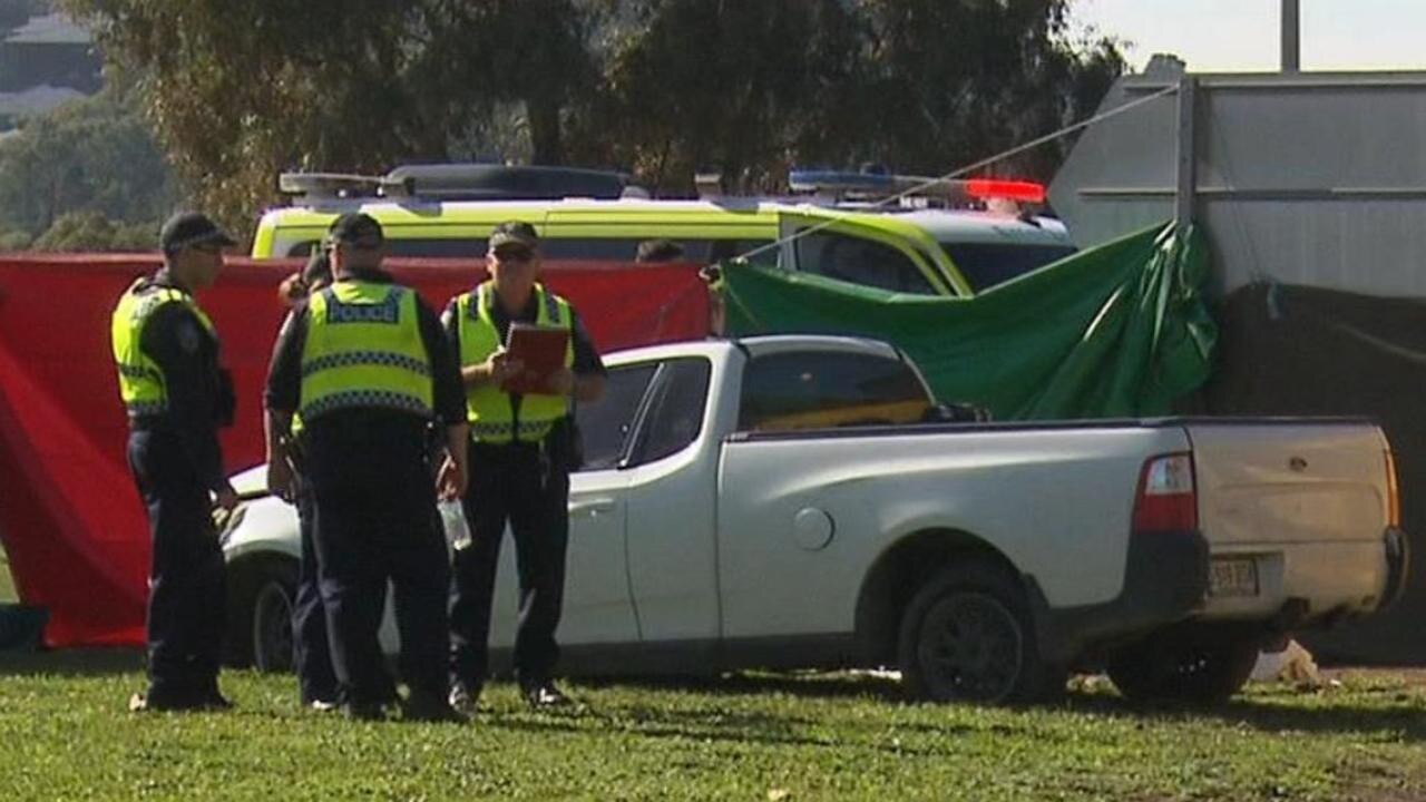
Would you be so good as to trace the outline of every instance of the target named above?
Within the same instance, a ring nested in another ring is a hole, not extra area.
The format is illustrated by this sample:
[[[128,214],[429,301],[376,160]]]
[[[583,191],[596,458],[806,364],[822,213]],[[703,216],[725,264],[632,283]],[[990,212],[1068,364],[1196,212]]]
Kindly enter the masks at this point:
[[[570,330],[565,345],[565,367],[575,364],[573,315],[569,303],[543,285],[535,285],[539,313],[535,321],[540,325],[562,325]],[[456,298],[456,315],[461,333],[461,365],[478,365],[491,358],[501,347],[501,334],[491,314],[496,303],[495,287],[486,281]],[[536,442],[543,440],[555,422],[569,411],[563,395],[528,394],[520,398],[519,420],[511,404],[509,392],[495,384],[465,388],[465,418],[471,424],[471,437],[478,442]]]

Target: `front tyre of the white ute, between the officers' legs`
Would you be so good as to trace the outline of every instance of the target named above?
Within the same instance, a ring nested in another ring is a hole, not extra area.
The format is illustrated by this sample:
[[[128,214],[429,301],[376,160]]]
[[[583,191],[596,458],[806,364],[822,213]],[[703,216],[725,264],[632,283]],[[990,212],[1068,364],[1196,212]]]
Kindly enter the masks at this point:
[[[230,578],[228,662],[258,671],[292,671],[292,604],[297,565],[264,559]]]

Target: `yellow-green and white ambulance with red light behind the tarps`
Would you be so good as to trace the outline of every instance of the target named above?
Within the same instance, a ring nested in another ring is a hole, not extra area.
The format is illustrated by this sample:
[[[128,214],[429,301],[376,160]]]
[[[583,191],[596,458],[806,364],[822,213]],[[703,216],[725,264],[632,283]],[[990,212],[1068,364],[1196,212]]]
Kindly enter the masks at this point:
[[[1027,181],[799,170],[787,184],[784,197],[732,197],[700,177],[697,200],[653,200],[623,174],[563,167],[285,173],[291,203],[262,215],[252,257],[305,257],[347,211],[381,221],[395,257],[482,258],[496,224],[523,220],[550,260],[633,261],[662,238],[686,261],[743,257],[914,295],[973,297],[1074,253],[1058,220],[1032,213],[1045,193]]]

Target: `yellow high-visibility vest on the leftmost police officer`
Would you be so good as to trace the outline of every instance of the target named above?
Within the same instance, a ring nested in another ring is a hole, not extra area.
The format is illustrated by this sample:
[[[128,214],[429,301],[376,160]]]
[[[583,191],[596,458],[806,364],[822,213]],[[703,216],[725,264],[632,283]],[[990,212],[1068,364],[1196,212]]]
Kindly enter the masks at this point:
[[[110,321],[110,341],[114,365],[118,368],[118,395],[131,417],[157,415],[168,410],[168,380],[158,362],[144,352],[144,325],[164,304],[183,304],[217,340],[212,321],[202,314],[193,295],[174,287],[150,284],[140,278],[133,283],[114,307]]]

